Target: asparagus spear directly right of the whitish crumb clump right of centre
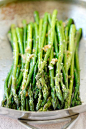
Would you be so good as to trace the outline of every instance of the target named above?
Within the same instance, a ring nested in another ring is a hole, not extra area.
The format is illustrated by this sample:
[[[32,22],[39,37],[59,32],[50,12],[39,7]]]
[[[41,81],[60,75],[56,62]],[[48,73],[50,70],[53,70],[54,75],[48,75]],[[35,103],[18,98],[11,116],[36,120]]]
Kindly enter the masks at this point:
[[[60,90],[59,81],[60,81],[60,72],[61,72],[61,63],[63,59],[63,36],[62,36],[62,28],[57,23],[57,31],[59,35],[59,57],[58,62],[56,64],[56,78],[55,78],[55,89],[56,89],[56,95],[60,101],[63,102],[62,92]]]

